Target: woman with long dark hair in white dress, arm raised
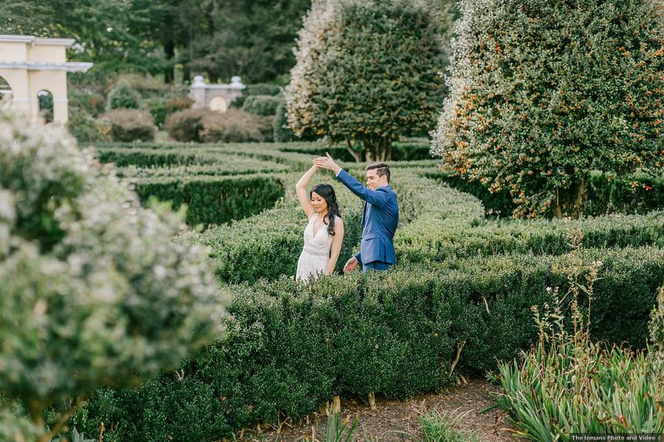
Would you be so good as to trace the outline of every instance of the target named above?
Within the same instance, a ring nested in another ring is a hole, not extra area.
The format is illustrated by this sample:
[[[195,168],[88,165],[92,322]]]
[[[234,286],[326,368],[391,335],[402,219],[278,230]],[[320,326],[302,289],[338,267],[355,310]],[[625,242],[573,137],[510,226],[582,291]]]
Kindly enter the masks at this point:
[[[304,228],[304,248],[297,261],[295,276],[304,281],[321,274],[332,274],[344,240],[344,222],[332,186],[317,184],[311,192],[306,191],[317,169],[318,166],[313,166],[295,185],[299,204],[309,219]]]

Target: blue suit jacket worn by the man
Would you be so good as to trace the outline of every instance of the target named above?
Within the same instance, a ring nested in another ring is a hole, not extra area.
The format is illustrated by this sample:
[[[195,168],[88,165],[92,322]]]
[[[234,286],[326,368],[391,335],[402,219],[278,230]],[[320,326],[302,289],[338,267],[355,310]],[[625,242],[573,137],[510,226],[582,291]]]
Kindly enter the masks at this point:
[[[362,213],[362,240],[360,251],[355,258],[362,263],[374,261],[396,264],[394,253],[394,231],[399,222],[399,205],[396,193],[391,186],[382,186],[372,191],[341,169],[337,179],[347,186],[351,192],[365,200]]]

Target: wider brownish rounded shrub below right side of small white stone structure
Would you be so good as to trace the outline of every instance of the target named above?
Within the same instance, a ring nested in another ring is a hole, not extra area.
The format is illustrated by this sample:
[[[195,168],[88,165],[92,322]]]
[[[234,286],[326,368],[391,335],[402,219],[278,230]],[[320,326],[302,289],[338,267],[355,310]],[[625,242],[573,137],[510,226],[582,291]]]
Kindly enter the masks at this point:
[[[223,113],[210,112],[202,119],[200,136],[204,142],[261,142],[265,140],[266,123],[257,115],[237,109]],[[267,126],[271,132],[272,126]],[[271,136],[271,133],[270,133]]]

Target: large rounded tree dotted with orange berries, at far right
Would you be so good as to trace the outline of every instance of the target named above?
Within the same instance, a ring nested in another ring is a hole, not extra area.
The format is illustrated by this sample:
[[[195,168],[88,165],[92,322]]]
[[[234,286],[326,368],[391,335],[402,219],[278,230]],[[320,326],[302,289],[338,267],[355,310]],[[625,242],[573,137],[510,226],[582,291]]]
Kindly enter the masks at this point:
[[[661,2],[462,0],[432,152],[515,215],[583,211],[593,169],[661,166]]]

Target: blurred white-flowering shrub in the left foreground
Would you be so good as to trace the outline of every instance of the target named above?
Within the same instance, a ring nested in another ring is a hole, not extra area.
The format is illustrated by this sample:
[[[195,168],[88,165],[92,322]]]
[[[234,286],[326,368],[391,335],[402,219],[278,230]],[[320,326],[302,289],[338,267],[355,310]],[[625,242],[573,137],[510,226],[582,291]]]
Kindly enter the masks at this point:
[[[0,111],[0,393],[40,424],[216,336],[208,253],[183,228],[183,211],[143,209],[63,129]]]

